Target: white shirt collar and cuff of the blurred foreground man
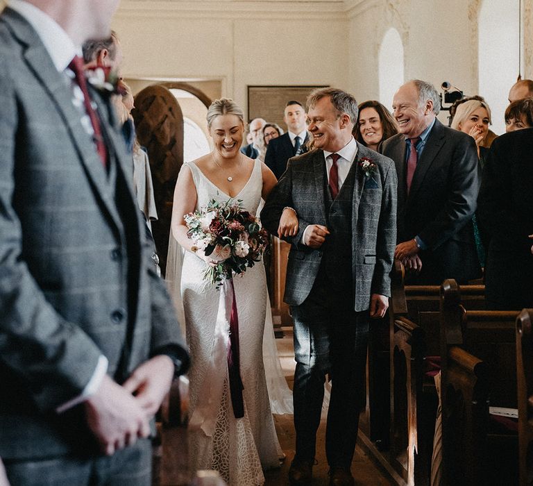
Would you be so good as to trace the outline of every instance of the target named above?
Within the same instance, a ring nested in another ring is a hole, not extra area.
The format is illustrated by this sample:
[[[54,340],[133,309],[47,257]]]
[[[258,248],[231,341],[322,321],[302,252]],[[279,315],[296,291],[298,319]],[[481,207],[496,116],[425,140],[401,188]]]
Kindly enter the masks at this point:
[[[65,72],[65,69],[67,69],[72,58],[81,54],[81,47],[76,47],[61,26],[39,8],[24,0],[8,0],[8,6],[22,15],[22,17],[24,17],[24,19],[26,19],[35,29],[35,32],[39,35],[58,72]],[[99,388],[107,371],[108,358],[105,358],[104,355],[100,355],[92,377],[89,380],[89,383],[85,385],[83,392],[67,401],[67,403],[60,405],[56,409],[56,412],[65,412],[65,410],[85,401],[89,396],[94,394]]]

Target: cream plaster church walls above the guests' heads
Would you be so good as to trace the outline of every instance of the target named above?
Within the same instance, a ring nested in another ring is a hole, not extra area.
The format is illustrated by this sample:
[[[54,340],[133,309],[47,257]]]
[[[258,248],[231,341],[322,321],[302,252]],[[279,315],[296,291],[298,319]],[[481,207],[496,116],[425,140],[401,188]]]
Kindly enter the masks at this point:
[[[423,78],[437,87],[450,81],[475,94],[481,3],[122,0],[112,26],[129,80],[207,80],[210,95],[233,97],[246,109],[246,86],[260,84],[328,84],[353,92],[358,101],[378,99],[378,52],[391,26],[403,39],[406,80]],[[532,18],[533,0],[523,0],[522,70],[530,78]]]

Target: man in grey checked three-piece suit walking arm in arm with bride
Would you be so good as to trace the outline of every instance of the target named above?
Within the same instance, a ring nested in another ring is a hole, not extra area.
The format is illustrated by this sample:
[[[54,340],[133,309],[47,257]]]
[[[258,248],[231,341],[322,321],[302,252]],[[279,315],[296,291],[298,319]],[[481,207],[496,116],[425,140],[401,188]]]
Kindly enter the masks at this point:
[[[357,101],[341,90],[307,99],[316,150],[291,158],[261,219],[276,233],[282,210],[298,215],[291,242],[285,302],[294,317],[292,485],[309,485],[324,377],[332,390],[325,448],[331,485],[353,485],[350,465],[364,408],[370,317],[382,317],[396,242],[396,171],[392,160],[352,137]],[[369,312],[370,310],[370,312]]]

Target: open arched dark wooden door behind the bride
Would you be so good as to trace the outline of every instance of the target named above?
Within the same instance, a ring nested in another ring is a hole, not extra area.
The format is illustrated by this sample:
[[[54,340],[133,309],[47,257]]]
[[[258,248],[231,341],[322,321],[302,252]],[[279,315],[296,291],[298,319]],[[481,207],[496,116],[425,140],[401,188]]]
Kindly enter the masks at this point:
[[[132,112],[139,144],[148,150],[158,221],[152,222],[160,267],[167,267],[172,199],[183,165],[183,114],[173,94],[161,85],[144,88]]]

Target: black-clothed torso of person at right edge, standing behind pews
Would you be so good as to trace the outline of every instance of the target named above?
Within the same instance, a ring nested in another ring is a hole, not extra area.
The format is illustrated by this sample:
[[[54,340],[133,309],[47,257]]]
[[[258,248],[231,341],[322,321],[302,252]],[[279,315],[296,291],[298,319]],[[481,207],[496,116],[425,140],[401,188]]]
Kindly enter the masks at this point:
[[[533,307],[533,128],[494,140],[485,161],[477,217],[487,236],[487,308]]]

